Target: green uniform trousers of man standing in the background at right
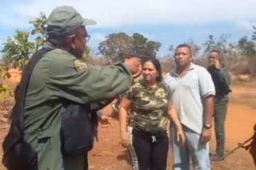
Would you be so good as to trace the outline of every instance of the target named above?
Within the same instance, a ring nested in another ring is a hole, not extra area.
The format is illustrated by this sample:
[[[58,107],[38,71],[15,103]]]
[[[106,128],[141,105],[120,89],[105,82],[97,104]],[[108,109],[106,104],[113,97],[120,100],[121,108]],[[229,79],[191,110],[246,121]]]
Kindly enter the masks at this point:
[[[223,96],[215,99],[214,103],[214,130],[216,136],[216,153],[224,156],[225,151],[225,120],[228,107],[228,97]]]

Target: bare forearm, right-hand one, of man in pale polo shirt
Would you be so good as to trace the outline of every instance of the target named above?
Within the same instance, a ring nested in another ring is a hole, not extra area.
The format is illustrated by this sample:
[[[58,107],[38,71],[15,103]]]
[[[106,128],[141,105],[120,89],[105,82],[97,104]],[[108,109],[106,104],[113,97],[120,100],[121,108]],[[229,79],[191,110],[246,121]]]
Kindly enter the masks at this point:
[[[203,123],[212,123],[214,115],[214,96],[206,96],[203,98]]]

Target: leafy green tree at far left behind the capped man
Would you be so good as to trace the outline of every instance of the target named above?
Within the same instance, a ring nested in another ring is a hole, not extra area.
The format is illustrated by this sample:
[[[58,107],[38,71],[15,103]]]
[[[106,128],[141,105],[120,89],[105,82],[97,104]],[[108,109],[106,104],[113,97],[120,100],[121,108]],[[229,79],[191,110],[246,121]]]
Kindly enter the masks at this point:
[[[30,41],[30,33],[26,31],[16,31],[13,36],[8,36],[6,43],[3,43],[3,59],[0,64],[0,78],[10,78],[8,72],[10,67],[15,67],[23,70],[30,56],[38,50],[39,46],[43,45],[46,40],[46,32],[42,29],[43,23],[46,20],[44,13],[40,13],[39,17],[29,23],[34,25],[31,34],[40,34],[35,38],[35,41]],[[8,85],[0,83],[0,94],[8,92],[11,93]]]

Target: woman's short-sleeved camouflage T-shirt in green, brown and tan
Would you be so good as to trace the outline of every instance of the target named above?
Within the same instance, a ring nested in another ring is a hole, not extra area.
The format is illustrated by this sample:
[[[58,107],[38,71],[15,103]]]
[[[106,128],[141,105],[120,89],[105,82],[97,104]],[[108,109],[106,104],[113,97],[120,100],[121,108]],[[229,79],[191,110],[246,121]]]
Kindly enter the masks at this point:
[[[150,134],[165,131],[167,125],[167,87],[159,83],[154,88],[135,83],[126,94],[131,100],[129,125]]]

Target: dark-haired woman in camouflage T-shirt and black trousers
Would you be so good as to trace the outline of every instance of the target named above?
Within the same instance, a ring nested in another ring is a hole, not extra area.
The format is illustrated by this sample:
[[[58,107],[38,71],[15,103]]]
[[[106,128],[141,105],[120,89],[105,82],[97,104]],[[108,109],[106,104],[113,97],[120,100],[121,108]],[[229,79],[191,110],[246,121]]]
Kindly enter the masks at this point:
[[[133,169],[165,170],[169,145],[167,118],[174,121],[181,143],[185,137],[167,87],[162,83],[159,61],[147,59],[142,74],[143,80],[131,86],[118,109],[121,142],[129,149]]]

